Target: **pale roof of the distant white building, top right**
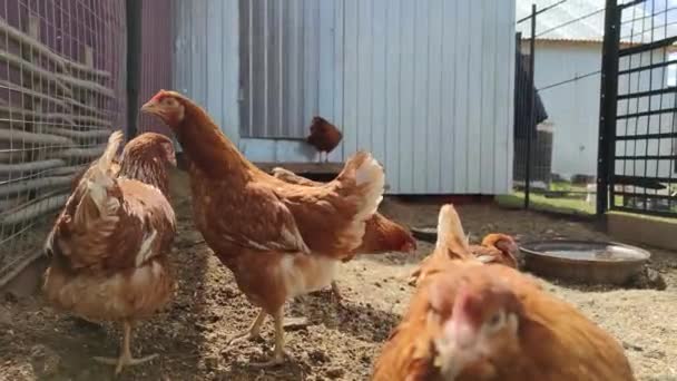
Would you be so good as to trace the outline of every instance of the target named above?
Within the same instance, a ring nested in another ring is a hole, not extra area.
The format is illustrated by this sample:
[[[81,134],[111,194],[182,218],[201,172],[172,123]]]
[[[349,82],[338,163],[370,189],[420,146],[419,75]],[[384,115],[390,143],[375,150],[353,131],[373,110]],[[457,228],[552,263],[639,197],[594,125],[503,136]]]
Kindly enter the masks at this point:
[[[537,9],[558,3],[561,0],[517,0],[516,18],[520,20],[531,13],[531,4]],[[619,2],[628,2],[621,0]],[[536,36],[542,40],[599,41],[604,39],[605,0],[567,0],[536,18]],[[667,8],[666,8],[667,3]],[[654,17],[651,18],[651,14]],[[667,17],[667,27],[666,27]],[[651,20],[653,19],[653,20]],[[631,7],[622,13],[621,40],[624,42],[646,42],[677,35],[677,0],[647,1]],[[653,23],[651,23],[653,22]],[[529,21],[517,25],[522,36],[531,36]],[[654,30],[654,36],[651,36]]]

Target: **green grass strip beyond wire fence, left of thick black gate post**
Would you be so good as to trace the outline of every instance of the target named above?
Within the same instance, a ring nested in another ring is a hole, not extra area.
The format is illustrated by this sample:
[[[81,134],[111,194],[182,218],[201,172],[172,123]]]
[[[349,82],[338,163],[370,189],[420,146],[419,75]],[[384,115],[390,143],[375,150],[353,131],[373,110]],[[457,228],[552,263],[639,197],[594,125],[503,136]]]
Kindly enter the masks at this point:
[[[524,205],[524,193],[516,192],[510,195],[496,196],[496,202],[504,207],[522,207]],[[577,198],[547,198],[543,195],[531,194],[529,196],[530,207],[534,211],[555,212],[562,214],[595,214],[595,205]]]

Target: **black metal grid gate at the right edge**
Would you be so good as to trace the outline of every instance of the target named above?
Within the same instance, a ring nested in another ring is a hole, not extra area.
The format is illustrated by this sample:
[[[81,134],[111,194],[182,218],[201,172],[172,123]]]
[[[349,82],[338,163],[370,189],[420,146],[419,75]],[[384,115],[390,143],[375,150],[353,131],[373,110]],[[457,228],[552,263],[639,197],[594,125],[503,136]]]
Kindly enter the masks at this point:
[[[676,20],[668,0],[607,0],[599,214],[677,217]]]

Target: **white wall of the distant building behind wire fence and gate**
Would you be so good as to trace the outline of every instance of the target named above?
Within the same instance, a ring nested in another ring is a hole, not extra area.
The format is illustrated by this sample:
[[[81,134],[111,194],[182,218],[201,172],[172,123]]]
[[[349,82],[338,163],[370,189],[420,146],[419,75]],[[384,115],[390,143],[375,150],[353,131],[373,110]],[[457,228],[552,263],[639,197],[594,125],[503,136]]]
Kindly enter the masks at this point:
[[[527,41],[522,42],[526,49]],[[632,56],[630,62],[628,58],[621,59],[620,69],[631,65],[637,67],[649,65],[651,57],[649,53]],[[663,51],[655,51],[653,62],[657,63],[665,59]],[[597,149],[599,137],[599,74],[569,81],[559,86],[547,88],[550,85],[567,81],[569,79],[585,76],[601,69],[601,43],[598,42],[573,42],[573,41],[537,41],[536,47],[536,72],[534,82],[546,107],[549,120],[553,126],[552,143],[552,173],[571,176],[577,174],[597,174]],[[619,94],[646,91],[649,84],[653,88],[661,88],[661,81],[667,81],[667,70],[654,69],[645,70],[641,74],[634,74],[631,78],[624,76],[619,78]],[[651,109],[674,108],[674,95],[663,96],[663,106],[659,106],[659,96],[651,99]],[[628,108],[629,107],[629,108]],[[648,97],[619,101],[618,114],[646,111],[649,107]],[[648,126],[648,127],[647,127]],[[660,127],[659,127],[660,126]],[[648,128],[648,129],[647,129]],[[666,113],[660,117],[651,117],[650,124],[647,117],[631,118],[618,121],[618,135],[635,134],[656,134],[673,131],[673,114]],[[660,150],[658,150],[660,146]],[[671,139],[649,139],[648,147],[646,140],[618,141],[616,145],[617,155],[635,156],[644,155],[647,150],[649,155],[670,155],[673,152]],[[618,160],[616,163],[617,174],[632,176],[663,176],[667,177],[670,170],[670,160]],[[625,166],[625,167],[624,167]],[[674,176],[674,175],[673,175]]]

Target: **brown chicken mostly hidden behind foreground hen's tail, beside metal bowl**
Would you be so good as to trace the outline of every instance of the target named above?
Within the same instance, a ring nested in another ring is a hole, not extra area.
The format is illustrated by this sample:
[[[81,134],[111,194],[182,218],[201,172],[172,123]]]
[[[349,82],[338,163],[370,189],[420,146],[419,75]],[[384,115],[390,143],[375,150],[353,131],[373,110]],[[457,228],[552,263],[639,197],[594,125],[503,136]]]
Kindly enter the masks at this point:
[[[497,263],[517,268],[516,256],[519,254],[520,248],[514,240],[507,234],[487,234],[482,240],[482,244],[469,245],[468,248],[470,253],[472,253],[472,255],[474,255],[482,263]],[[418,282],[421,268],[425,266],[425,263],[432,255],[423,258],[419,266],[411,272],[409,277],[410,285],[414,285]]]

